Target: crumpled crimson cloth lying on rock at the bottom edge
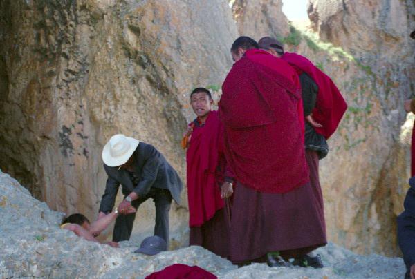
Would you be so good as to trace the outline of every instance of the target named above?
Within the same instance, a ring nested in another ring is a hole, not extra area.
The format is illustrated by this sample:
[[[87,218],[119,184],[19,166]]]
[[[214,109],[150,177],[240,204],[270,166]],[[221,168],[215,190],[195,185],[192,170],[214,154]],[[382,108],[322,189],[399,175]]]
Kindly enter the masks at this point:
[[[151,273],[145,279],[215,279],[214,274],[194,265],[173,264],[161,271]]]

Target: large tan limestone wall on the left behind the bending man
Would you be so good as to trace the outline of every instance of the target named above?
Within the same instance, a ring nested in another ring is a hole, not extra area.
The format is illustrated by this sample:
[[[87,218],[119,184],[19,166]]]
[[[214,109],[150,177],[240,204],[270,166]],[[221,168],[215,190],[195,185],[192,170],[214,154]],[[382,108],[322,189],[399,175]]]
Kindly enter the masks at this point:
[[[185,181],[190,90],[220,84],[237,37],[228,4],[0,1],[0,166],[55,210],[94,219],[102,146],[124,133],[156,146]],[[187,198],[172,227],[187,225]],[[138,214],[151,231],[154,206]]]

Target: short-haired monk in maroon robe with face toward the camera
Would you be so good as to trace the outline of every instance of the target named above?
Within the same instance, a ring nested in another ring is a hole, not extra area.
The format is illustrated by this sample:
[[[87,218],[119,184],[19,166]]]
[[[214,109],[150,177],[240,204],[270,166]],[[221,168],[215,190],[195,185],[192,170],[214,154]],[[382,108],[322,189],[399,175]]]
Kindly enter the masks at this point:
[[[182,142],[187,148],[190,245],[227,257],[230,211],[223,198],[232,194],[233,180],[223,153],[223,125],[218,113],[211,110],[209,90],[194,89],[190,102],[197,118],[189,124]]]

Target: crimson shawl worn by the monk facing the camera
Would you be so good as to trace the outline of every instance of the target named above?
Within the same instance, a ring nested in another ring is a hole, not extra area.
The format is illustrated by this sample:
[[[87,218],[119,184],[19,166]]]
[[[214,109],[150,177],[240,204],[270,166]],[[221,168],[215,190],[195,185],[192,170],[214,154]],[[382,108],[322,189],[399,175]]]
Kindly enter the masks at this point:
[[[223,159],[223,126],[218,113],[211,111],[205,125],[194,126],[186,153],[190,227],[200,227],[223,208],[223,173],[217,171]]]

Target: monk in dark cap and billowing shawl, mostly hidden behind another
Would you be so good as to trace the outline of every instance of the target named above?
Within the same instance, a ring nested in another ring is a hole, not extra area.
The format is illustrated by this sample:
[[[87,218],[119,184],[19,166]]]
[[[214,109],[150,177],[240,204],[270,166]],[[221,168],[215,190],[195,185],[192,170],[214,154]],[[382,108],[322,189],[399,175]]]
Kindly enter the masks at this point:
[[[302,87],[304,108],[306,161],[310,173],[310,183],[313,188],[312,198],[320,206],[320,218],[324,220],[324,202],[319,177],[319,160],[329,153],[327,141],[338,127],[342,116],[347,110],[347,104],[342,94],[330,77],[324,74],[311,61],[296,53],[284,52],[282,44],[271,37],[261,38],[259,47],[275,57],[287,61],[299,77]],[[310,253],[295,260],[294,264],[304,266],[303,262],[313,267],[322,267],[320,256]]]

